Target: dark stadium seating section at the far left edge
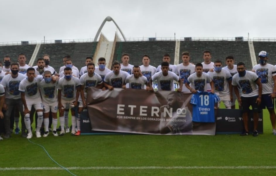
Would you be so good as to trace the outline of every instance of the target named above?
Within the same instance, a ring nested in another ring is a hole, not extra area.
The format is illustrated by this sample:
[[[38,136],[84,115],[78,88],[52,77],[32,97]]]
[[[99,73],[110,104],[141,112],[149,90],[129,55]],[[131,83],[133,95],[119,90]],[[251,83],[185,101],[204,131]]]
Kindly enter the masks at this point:
[[[5,55],[11,57],[11,62],[18,62],[18,54],[24,53],[26,55],[26,63],[29,63],[32,53],[35,50],[36,45],[11,45],[0,46],[0,60],[3,62]]]

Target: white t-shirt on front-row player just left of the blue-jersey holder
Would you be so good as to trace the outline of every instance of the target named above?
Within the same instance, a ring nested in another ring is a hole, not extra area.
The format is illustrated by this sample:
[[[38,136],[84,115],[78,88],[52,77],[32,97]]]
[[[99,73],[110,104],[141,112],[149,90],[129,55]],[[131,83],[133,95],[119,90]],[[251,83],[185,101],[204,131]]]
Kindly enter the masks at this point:
[[[168,75],[164,76],[162,71],[157,72],[151,77],[152,82],[157,80],[158,90],[172,90],[174,91],[174,81],[179,81],[179,77],[174,73],[168,71]]]

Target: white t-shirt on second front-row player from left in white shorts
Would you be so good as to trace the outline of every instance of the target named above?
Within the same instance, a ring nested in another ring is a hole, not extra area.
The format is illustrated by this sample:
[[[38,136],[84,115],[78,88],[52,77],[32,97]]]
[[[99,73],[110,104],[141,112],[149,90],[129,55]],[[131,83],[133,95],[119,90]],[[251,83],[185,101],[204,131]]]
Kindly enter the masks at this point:
[[[42,79],[38,85],[42,97],[42,102],[46,103],[56,103],[57,99],[57,85],[58,81],[55,83],[46,83],[44,79]]]

